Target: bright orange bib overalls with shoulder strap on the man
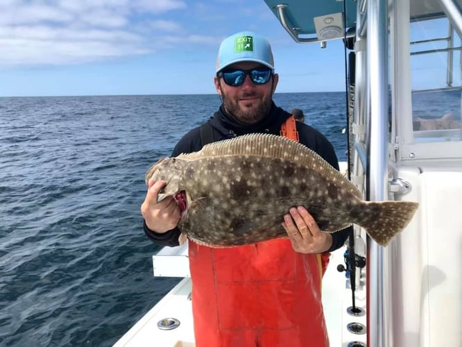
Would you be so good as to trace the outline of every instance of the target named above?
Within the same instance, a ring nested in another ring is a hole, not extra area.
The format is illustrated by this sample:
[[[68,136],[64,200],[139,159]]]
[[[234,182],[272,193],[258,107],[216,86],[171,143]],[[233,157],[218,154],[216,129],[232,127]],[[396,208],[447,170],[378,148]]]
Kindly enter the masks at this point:
[[[298,141],[295,119],[281,135]],[[229,248],[189,240],[196,347],[329,346],[321,280],[329,254],[289,239]]]

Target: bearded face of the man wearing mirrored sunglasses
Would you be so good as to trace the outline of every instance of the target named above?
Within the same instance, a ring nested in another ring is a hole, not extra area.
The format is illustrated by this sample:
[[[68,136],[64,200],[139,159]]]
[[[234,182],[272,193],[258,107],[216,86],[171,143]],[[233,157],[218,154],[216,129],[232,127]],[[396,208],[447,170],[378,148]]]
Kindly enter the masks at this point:
[[[251,70],[259,67],[264,66],[257,62],[238,62],[226,69]],[[278,76],[275,74],[268,83],[256,85],[250,76],[246,76],[243,84],[233,87],[227,85],[222,77],[214,78],[216,92],[221,95],[225,110],[245,124],[255,124],[268,115],[277,81]]]

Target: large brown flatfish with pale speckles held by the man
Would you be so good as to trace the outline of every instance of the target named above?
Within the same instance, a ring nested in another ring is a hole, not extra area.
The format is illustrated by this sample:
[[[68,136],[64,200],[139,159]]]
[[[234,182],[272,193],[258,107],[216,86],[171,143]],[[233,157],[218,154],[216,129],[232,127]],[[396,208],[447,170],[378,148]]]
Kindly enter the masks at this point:
[[[199,244],[253,244],[286,237],[284,214],[305,206],[320,230],[356,223],[386,246],[411,220],[418,203],[363,201],[359,190],[314,151],[277,135],[250,134],[164,158],[146,173],[164,180],[157,197],[187,193],[178,227]]]

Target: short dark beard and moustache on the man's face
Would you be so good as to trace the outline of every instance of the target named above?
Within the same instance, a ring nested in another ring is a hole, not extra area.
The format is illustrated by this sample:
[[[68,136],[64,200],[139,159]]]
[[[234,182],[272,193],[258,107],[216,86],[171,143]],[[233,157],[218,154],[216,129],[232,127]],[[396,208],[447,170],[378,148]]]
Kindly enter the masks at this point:
[[[257,96],[257,94],[248,93],[241,96],[246,98]],[[221,95],[221,99],[225,110],[243,124],[256,124],[264,119],[271,110],[271,93],[263,95],[257,105],[255,105],[255,101],[249,101],[247,106],[245,101],[239,102],[237,99],[231,99],[224,94]]]

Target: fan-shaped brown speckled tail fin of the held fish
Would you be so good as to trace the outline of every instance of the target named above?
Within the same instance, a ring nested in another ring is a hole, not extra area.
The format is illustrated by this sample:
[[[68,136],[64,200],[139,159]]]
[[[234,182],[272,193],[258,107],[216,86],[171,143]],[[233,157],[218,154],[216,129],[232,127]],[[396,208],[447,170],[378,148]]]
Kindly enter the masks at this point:
[[[356,211],[357,223],[380,246],[386,246],[411,221],[419,204],[411,201],[366,201]]]

